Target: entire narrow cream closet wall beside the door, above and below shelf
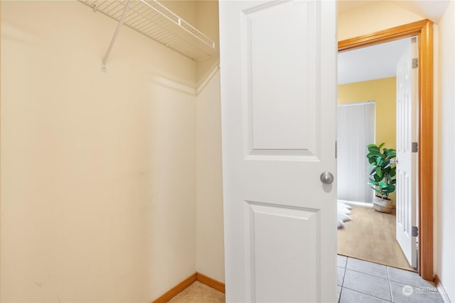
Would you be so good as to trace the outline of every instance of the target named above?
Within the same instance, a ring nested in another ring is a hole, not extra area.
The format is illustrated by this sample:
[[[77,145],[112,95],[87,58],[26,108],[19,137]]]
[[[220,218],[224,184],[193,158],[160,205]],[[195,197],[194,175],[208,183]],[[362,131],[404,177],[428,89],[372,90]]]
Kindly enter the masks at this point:
[[[197,14],[197,27],[219,45],[218,1],[198,1]],[[198,62],[196,75],[196,268],[224,282],[219,60]]]

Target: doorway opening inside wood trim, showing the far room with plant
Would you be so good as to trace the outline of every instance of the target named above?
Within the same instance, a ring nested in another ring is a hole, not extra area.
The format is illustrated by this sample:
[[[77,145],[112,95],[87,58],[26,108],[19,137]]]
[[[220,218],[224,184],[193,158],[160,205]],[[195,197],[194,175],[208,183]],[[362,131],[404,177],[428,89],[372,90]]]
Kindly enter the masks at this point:
[[[338,54],[337,160],[338,213],[350,213],[338,254],[415,271],[417,154],[403,153],[417,142],[413,57],[415,37]]]

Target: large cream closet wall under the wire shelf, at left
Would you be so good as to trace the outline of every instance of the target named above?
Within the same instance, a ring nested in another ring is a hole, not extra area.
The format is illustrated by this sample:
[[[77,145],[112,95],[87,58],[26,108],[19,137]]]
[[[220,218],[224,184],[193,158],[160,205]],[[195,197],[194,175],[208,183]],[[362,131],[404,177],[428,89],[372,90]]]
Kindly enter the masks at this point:
[[[1,302],[150,302],[196,271],[196,64],[77,1],[1,2]]]

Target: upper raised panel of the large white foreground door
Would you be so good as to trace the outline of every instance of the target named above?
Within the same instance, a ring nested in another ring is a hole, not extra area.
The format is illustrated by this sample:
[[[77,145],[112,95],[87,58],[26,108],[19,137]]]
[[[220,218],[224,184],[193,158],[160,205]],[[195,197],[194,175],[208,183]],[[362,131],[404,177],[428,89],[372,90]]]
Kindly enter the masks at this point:
[[[243,12],[247,145],[253,154],[316,154],[315,9],[297,1]]]

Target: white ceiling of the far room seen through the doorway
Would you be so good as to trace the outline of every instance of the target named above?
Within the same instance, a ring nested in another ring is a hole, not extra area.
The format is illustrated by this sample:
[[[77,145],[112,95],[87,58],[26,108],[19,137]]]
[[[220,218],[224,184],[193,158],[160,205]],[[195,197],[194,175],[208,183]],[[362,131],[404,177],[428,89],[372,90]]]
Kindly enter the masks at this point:
[[[338,84],[394,77],[398,60],[411,38],[338,53]]]

